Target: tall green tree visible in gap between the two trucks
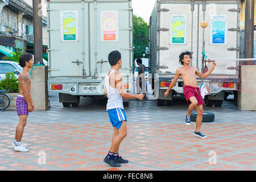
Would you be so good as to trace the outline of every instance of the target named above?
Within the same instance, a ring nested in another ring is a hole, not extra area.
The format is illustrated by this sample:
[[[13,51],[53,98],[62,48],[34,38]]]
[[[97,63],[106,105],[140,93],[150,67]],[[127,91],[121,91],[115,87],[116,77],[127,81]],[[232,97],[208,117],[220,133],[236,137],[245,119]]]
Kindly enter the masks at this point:
[[[140,16],[133,15],[134,60],[143,57],[148,47],[148,24]],[[148,55],[145,56],[148,58]]]

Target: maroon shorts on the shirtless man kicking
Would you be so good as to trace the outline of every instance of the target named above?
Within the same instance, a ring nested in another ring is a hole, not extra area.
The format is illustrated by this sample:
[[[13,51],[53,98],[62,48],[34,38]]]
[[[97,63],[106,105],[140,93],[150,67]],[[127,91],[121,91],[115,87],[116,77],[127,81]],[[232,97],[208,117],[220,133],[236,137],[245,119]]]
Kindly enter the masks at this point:
[[[201,96],[200,89],[198,87],[185,85],[184,86],[184,95],[188,102],[188,105],[191,104],[191,102],[189,101],[189,98],[191,98],[191,97],[196,97],[197,105],[204,104],[203,97]]]

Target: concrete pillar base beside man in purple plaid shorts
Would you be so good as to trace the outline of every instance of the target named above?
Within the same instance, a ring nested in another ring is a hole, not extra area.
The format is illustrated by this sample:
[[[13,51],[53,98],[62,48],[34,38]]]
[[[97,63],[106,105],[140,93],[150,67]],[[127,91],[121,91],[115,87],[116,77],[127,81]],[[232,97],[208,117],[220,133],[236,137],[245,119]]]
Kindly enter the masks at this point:
[[[49,109],[48,67],[34,66],[31,79],[31,97],[35,110]]]

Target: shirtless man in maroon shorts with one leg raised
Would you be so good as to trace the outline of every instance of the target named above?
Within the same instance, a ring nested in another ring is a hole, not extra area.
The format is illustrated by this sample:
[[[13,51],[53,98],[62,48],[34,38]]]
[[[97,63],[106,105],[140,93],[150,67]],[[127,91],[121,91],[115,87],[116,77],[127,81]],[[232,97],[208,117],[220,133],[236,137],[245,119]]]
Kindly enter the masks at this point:
[[[196,75],[199,76],[200,78],[205,78],[208,77],[210,75],[210,73],[212,73],[213,69],[216,67],[216,63],[212,63],[212,68],[210,68],[210,70],[206,73],[201,73],[200,71],[198,71],[198,69],[196,67],[191,67],[190,63],[191,63],[191,52],[182,52],[179,56],[180,59],[180,64],[183,65],[183,67],[178,68],[176,70],[176,74],[174,77],[174,80],[172,80],[169,88],[167,89],[166,93],[164,94],[164,96],[168,96],[170,90],[174,87],[174,85],[177,82],[177,79],[179,78],[179,76],[182,78],[183,82],[184,82],[184,95],[185,98],[189,104],[188,107],[188,113],[186,115],[186,119],[185,119],[185,124],[186,125],[191,125],[191,119],[190,119],[190,115],[192,110],[196,107],[197,110],[197,117],[196,117],[196,131],[194,133],[194,135],[196,135],[197,137],[200,138],[207,138],[206,135],[204,135],[203,133],[201,133],[200,131],[200,127],[201,127],[201,123],[203,121],[203,104],[204,104],[204,100],[201,96],[200,93],[200,89],[197,87],[197,80],[196,80]]]

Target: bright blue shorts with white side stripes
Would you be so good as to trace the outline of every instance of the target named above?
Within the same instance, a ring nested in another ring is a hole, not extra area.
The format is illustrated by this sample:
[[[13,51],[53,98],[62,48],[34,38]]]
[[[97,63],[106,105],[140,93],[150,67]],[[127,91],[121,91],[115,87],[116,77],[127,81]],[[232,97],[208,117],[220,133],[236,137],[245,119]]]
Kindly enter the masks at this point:
[[[108,110],[110,123],[113,127],[116,127],[118,130],[122,126],[123,121],[127,121],[125,110],[122,108],[115,108]]]

